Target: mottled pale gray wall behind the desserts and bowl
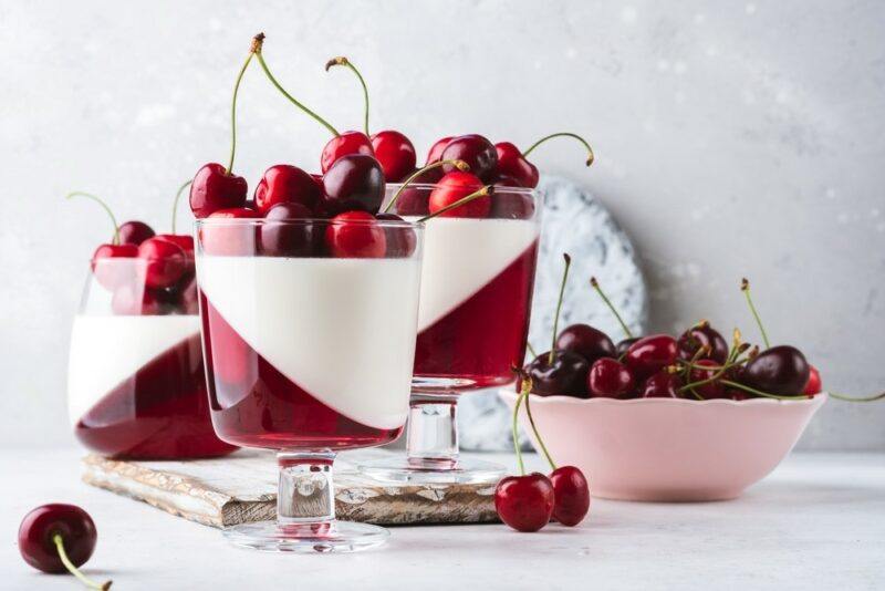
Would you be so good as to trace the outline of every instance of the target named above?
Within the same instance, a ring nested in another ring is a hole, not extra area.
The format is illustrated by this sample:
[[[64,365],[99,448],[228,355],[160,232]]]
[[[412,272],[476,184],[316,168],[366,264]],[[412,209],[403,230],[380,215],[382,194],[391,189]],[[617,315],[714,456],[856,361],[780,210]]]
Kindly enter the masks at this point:
[[[0,3],[0,442],[69,443],[71,317],[104,195],[167,229],[175,187],[228,151],[228,103],[250,37],[279,77],[342,127],[360,94],[326,59],[362,66],[374,128],[421,153],[447,133],[521,145],[590,186],[634,238],[652,323],[709,318],[753,334],[747,274],[777,341],[800,345],[848,393],[885,387],[885,6],[663,3]],[[316,168],[326,137],[244,81],[238,169],[253,184],[289,162]],[[183,208],[183,220],[186,218]],[[802,445],[885,449],[885,404],[831,403]]]

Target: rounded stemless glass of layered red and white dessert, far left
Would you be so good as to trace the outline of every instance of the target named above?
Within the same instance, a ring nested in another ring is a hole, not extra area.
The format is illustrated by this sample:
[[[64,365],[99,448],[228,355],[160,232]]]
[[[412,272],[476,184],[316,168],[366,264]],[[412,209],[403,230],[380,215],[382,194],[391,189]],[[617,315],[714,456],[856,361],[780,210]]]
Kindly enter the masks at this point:
[[[74,435],[103,456],[196,458],[236,447],[212,431],[194,261],[152,287],[159,261],[91,261],[71,334],[67,406]]]

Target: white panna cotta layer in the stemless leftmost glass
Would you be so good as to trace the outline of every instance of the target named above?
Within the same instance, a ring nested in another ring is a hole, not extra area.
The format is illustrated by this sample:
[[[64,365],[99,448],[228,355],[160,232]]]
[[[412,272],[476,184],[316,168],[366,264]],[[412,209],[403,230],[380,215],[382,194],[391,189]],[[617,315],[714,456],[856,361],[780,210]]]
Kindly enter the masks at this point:
[[[77,315],[71,333],[67,411],[76,423],[153,359],[200,331],[191,315]]]

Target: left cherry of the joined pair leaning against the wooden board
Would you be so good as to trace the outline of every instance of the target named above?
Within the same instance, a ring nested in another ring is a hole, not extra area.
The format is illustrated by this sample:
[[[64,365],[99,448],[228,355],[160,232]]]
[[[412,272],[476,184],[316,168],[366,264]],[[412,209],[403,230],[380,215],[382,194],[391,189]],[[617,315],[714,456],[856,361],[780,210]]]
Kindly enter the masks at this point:
[[[494,487],[494,510],[517,531],[538,531],[550,522],[554,495],[550,478],[543,474],[508,476]]]

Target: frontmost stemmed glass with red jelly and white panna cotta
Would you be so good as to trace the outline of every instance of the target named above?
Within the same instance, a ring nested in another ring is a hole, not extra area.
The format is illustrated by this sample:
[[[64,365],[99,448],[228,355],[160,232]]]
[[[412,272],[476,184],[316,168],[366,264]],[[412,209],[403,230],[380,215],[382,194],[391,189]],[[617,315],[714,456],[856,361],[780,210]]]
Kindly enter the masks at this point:
[[[332,465],[403,431],[423,238],[402,220],[197,221],[212,422],[226,442],[277,450],[280,470],[277,520],[225,530],[233,543],[330,552],[386,540],[335,519]]]

